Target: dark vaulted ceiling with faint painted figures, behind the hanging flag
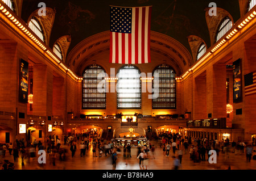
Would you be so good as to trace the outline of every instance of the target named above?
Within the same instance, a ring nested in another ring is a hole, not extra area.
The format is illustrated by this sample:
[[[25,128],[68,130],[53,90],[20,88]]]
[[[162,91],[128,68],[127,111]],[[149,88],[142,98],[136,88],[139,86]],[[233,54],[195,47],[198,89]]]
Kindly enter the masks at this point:
[[[176,39],[189,52],[188,36],[196,35],[210,47],[210,35],[205,19],[205,8],[212,0],[23,0],[22,19],[27,22],[40,2],[56,10],[49,39],[49,47],[59,37],[71,35],[68,53],[82,40],[110,30],[109,6],[152,6],[151,30]],[[238,0],[214,1],[217,7],[232,15],[234,22],[240,18]]]

